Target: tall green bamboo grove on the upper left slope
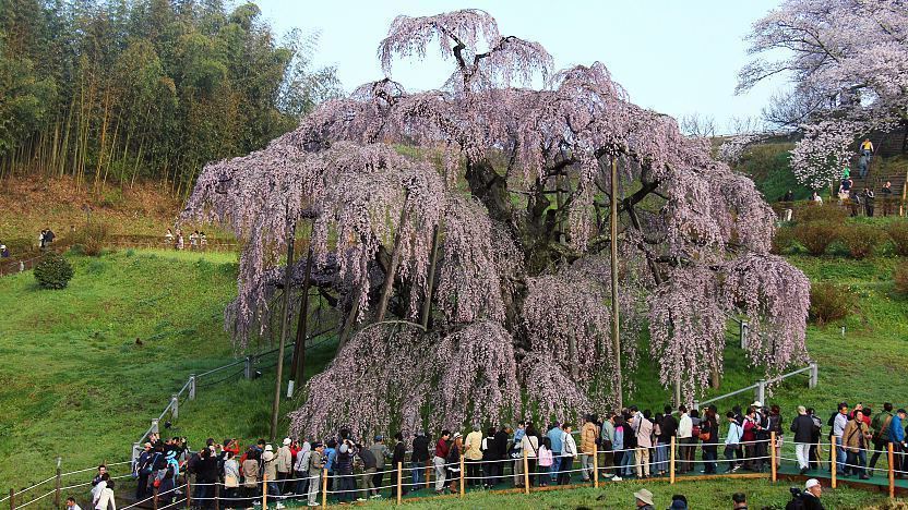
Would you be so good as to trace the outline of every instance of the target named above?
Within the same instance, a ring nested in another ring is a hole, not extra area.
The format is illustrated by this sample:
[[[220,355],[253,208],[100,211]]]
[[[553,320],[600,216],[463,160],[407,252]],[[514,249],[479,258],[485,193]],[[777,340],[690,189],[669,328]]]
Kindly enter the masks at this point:
[[[153,179],[261,148],[336,96],[318,37],[277,37],[252,3],[0,0],[0,179]]]

